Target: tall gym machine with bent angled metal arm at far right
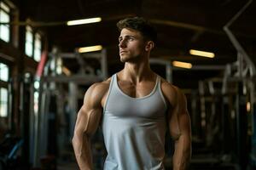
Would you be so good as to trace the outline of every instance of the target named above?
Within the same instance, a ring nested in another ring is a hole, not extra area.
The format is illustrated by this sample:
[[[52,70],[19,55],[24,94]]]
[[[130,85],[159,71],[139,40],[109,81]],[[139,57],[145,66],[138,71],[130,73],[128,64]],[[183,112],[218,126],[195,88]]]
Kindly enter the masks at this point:
[[[234,34],[230,31],[231,24],[247,9],[247,7],[253,3],[253,0],[249,0],[244,7],[224,26],[224,31],[227,36],[230,38],[230,41],[234,45],[237,51],[237,61],[236,64],[231,66],[227,66],[224,77],[224,87],[223,92],[225,93],[227,90],[227,80],[230,79],[231,67],[237,65],[237,70],[235,73],[235,82],[237,82],[236,89],[236,153],[237,153],[237,161],[239,163],[240,169],[247,168],[248,162],[248,134],[247,134],[247,83],[252,81],[251,77],[256,75],[255,65],[253,65],[253,61],[248,57],[246,51],[241,47],[241,44],[238,42]],[[227,76],[228,75],[228,76]],[[254,88],[254,87],[251,87]],[[254,94],[251,94],[254,95]]]

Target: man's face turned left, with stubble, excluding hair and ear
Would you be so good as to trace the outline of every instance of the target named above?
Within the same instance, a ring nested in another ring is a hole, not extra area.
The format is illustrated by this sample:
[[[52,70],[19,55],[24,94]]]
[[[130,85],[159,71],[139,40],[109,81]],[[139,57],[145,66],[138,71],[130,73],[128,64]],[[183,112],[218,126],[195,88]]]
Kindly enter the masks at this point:
[[[122,62],[139,59],[145,52],[145,42],[139,31],[124,28],[119,36],[119,56]]]

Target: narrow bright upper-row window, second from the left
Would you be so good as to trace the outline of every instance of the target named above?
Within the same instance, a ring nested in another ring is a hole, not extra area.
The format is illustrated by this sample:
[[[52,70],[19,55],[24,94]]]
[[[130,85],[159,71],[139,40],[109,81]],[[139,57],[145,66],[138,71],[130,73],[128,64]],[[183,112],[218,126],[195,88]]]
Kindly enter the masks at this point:
[[[26,44],[25,44],[25,53],[29,57],[33,55],[33,33],[30,26],[26,26]]]

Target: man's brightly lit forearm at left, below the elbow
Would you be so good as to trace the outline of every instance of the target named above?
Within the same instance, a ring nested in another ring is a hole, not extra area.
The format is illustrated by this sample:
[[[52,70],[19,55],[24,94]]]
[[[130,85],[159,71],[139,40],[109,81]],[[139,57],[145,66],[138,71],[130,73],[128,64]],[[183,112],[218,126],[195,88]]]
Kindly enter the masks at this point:
[[[87,137],[87,135],[84,135],[82,138],[74,137],[73,149],[80,170],[91,170],[92,156],[90,151],[90,139]]]

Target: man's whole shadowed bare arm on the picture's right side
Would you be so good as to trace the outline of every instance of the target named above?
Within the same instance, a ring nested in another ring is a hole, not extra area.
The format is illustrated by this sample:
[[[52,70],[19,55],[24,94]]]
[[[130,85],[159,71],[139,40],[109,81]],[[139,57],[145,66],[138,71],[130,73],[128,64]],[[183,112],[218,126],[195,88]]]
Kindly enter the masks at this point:
[[[174,139],[173,170],[188,169],[191,158],[191,125],[184,94],[174,88],[172,109],[168,113],[169,130]],[[170,102],[170,103],[171,103]]]

